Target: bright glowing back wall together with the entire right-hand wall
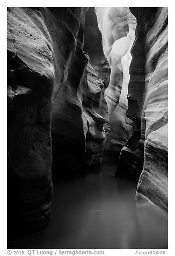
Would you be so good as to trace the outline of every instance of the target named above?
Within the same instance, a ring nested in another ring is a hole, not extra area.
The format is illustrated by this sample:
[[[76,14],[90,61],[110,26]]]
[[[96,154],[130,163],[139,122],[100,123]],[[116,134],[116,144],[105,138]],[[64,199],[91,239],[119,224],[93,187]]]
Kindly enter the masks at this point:
[[[111,66],[103,161],[116,162],[116,176],[139,180],[137,199],[167,211],[167,8],[130,11],[96,8]]]

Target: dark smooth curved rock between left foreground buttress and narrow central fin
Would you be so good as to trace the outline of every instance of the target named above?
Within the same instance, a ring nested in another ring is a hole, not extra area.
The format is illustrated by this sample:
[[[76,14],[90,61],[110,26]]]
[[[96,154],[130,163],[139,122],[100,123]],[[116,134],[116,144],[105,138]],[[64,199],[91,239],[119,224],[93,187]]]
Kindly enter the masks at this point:
[[[60,9],[57,8],[60,12]],[[53,175],[74,175],[85,162],[83,83],[88,58],[83,53],[85,13],[88,8],[65,8],[57,16],[55,93],[52,112]],[[56,12],[56,9],[53,8]],[[65,23],[67,13],[68,24]],[[58,13],[59,14],[59,13]],[[54,19],[53,19],[54,20]],[[72,22],[71,22],[72,21]]]

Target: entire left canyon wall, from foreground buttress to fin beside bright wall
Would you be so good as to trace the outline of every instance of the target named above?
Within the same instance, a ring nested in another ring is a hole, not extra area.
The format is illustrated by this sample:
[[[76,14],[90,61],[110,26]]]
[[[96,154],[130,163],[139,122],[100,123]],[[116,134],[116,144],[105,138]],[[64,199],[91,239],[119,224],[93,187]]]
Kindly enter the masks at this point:
[[[8,8],[8,224],[19,233],[49,223],[52,161],[60,176],[102,159],[110,67],[87,11]]]

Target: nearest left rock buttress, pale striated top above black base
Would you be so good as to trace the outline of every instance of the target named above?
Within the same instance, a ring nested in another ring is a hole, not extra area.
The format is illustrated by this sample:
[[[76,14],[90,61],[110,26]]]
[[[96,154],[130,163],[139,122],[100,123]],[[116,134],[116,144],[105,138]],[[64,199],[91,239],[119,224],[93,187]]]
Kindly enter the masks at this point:
[[[51,41],[40,11],[8,8],[8,225],[17,232],[50,219]]]

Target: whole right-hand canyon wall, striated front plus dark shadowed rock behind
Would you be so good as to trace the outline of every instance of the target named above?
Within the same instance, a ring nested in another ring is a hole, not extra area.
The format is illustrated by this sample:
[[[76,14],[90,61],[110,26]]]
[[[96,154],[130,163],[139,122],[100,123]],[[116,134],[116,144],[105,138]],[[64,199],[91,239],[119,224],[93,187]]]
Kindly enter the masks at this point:
[[[167,211],[167,8],[130,8],[137,18],[127,116],[133,136],[116,174],[139,176],[136,198]],[[134,126],[133,126],[134,127]]]

